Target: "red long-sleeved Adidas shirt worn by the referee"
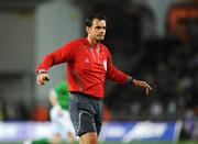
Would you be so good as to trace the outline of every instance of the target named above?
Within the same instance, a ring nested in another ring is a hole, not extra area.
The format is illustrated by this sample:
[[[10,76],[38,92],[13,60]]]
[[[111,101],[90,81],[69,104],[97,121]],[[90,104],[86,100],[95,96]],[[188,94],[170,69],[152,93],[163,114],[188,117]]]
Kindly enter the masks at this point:
[[[118,70],[111,62],[108,48],[99,43],[90,45],[87,38],[68,42],[50,53],[37,66],[38,70],[48,70],[53,65],[67,63],[69,91],[82,92],[103,98],[106,78],[120,84],[127,82],[129,76]]]

